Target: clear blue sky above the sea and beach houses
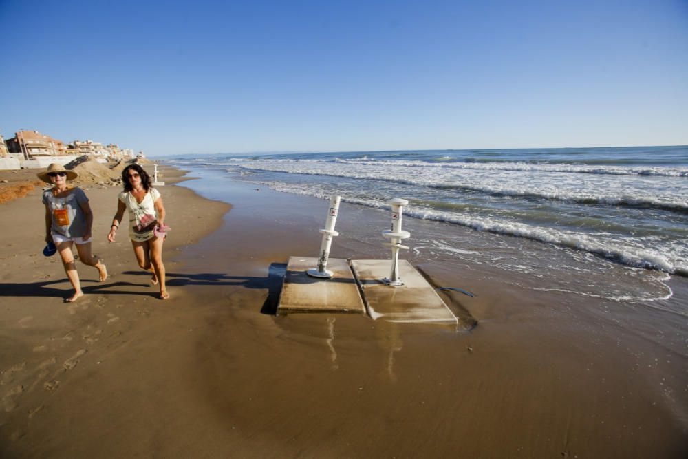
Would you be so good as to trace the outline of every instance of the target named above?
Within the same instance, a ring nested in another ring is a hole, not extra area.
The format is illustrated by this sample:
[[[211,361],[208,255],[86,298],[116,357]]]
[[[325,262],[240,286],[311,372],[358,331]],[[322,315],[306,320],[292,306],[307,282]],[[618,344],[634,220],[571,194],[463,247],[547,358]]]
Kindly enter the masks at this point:
[[[688,0],[0,0],[0,133],[152,156],[688,144]]]

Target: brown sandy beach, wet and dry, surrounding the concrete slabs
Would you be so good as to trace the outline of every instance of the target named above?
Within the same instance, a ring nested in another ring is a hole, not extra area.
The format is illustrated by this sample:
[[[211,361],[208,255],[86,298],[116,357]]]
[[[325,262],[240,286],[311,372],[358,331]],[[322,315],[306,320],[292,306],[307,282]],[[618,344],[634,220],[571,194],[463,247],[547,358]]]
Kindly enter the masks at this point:
[[[31,179],[0,179],[21,174]],[[227,178],[173,185],[181,175],[164,169],[160,189],[169,301],[124,232],[105,240],[118,187],[85,186],[111,277],[78,265],[86,295],[74,304],[58,258],[41,254],[41,189],[0,204],[3,458],[687,456],[685,277],[656,308],[411,251],[434,286],[475,293],[442,293],[458,328],[277,317],[286,261],[316,254],[327,204]],[[332,257],[388,257],[347,237],[385,228],[387,213],[340,213]]]

